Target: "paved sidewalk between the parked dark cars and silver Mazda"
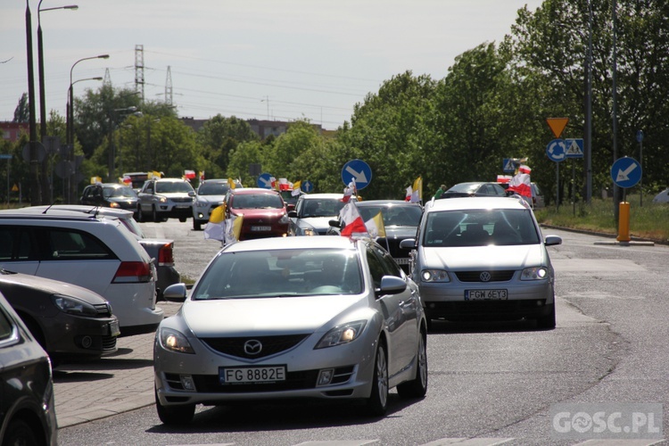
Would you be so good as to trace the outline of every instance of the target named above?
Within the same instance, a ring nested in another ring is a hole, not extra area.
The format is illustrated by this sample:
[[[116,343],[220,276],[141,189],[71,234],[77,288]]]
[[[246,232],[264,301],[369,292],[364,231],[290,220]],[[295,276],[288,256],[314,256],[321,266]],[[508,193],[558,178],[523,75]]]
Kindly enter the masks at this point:
[[[159,301],[165,316],[181,303]],[[63,364],[54,370],[58,427],[78,425],[150,406],[153,400],[154,334],[120,337],[119,351],[91,362]]]

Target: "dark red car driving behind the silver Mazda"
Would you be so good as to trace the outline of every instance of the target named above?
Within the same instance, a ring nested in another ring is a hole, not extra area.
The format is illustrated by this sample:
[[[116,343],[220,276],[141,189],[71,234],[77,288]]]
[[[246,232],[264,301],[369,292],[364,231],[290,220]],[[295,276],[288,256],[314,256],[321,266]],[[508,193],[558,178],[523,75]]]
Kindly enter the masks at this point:
[[[239,240],[285,237],[290,219],[284,199],[276,190],[260,187],[229,189],[226,195],[226,218],[244,216]]]

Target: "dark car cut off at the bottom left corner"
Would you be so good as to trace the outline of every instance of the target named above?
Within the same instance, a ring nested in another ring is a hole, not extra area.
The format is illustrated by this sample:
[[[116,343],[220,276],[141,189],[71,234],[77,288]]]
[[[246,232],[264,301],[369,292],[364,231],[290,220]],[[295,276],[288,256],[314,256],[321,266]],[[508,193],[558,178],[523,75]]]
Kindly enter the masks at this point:
[[[0,444],[57,444],[49,357],[0,294]]]

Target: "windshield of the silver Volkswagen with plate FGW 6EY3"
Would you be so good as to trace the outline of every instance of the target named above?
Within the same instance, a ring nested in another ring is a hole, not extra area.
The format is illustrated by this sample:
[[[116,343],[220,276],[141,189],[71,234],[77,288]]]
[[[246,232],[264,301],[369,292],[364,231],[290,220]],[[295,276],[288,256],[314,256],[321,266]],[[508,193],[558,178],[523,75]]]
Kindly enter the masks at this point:
[[[425,247],[540,242],[530,211],[517,209],[430,212],[423,237]]]

